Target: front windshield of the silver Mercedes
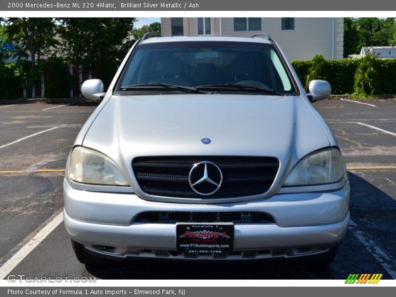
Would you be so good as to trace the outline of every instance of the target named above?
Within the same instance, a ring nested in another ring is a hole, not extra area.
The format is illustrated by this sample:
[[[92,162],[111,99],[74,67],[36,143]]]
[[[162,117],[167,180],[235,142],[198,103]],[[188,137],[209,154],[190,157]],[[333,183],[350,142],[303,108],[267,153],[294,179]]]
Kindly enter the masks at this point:
[[[284,94],[294,92],[275,47],[249,42],[139,45],[123,71],[117,90],[133,90],[131,86],[154,83],[217,89],[237,84]]]

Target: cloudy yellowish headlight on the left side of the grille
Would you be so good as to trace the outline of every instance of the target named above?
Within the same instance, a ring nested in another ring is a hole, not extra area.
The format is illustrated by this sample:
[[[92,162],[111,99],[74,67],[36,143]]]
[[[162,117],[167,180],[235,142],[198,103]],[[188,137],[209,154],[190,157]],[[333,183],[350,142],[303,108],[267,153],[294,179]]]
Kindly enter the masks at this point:
[[[73,181],[83,184],[129,186],[124,174],[112,159],[90,148],[73,149],[69,176]]]

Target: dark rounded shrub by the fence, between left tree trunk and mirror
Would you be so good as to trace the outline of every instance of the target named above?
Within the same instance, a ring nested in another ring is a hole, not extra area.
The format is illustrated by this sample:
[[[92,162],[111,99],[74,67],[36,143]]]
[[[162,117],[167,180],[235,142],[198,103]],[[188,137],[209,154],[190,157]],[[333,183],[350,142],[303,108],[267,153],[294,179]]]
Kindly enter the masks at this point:
[[[73,87],[73,76],[68,65],[60,58],[49,58],[45,63],[48,73],[45,78],[44,94],[46,98],[68,98]]]

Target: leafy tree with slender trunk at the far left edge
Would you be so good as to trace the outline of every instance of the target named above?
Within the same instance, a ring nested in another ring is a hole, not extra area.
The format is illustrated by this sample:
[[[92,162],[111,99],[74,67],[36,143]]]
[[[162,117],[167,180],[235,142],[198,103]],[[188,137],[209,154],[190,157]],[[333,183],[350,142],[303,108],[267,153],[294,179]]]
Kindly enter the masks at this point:
[[[14,55],[19,60],[30,58],[29,76],[26,85],[32,86],[32,97],[35,96],[35,84],[38,81],[37,65],[43,56],[51,53],[58,42],[55,39],[56,26],[52,18],[3,18],[3,37],[7,43],[14,45]]]

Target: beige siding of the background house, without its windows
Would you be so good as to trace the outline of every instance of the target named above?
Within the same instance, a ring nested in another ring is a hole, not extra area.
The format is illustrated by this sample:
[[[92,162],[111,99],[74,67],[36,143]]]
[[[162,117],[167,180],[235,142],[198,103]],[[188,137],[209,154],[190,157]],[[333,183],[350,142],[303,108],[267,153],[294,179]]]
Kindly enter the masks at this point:
[[[334,22],[334,23],[333,23]],[[184,35],[197,36],[197,18],[184,18]],[[162,35],[171,36],[170,18],[161,18]],[[220,28],[221,24],[221,28]],[[261,31],[234,32],[234,18],[211,18],[212,35],[251,37],[267,32],[289,59],[310,60],[315,54],[325,58],[340,59],[344,52],[343,18],[296,18],[295,30],[282,31],[281,18],[262,18]]]

